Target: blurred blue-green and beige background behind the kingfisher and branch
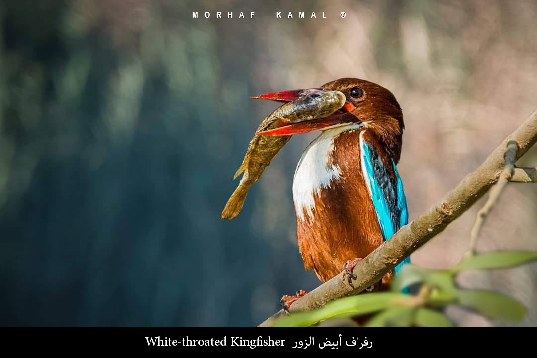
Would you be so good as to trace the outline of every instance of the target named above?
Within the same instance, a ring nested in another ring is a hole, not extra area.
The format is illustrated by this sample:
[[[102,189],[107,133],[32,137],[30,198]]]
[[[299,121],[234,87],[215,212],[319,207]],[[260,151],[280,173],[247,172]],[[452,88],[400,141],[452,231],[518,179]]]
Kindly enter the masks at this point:
[[[537,108],[536,18],[537,2],[521,0],[3,1],[0,324],[260,323],[282,295],[319,284],[303,269],[291,191],[318,133],[293,137],[242,213],[220,220],[278,106],[249,97],[339,77],[390,89],[412,220]],[[519,164],[535,166],[537,151]],[[456,264],[482,203],[412,260]],[[536,203],[536,185],[509,185],[478,248],[537,250]],[[460,283],[509,294],[529,310],[519,325],[537,325],[536,264]]]

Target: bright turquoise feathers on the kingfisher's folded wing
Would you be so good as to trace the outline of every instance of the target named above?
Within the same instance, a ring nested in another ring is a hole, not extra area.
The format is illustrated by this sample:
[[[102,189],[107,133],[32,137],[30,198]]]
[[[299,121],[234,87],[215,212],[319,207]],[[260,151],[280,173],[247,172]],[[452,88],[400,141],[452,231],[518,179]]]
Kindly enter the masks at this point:
[[[392,164],[397,180],[396,187],[394,187],[389,173],[375,148],[362,141],[361,149],[362,159],[364,160],[364,174],[371,191],[371,199],[379,219],[382,236],[384,240],[387,240],[403,225],[408,224],[407,198],[404,195],[403,182],[393,159]],[[405,258],[395,266],[395,273],[407,262],[410,262],[410,257]]]

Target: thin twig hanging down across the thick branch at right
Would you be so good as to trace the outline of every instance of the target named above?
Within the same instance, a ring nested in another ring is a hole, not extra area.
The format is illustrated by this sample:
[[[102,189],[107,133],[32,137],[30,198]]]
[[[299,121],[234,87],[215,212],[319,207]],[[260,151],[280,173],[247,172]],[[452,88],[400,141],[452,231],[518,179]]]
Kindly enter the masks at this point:
[[[498,201],[500,195],[502,195],[503,189],[511,179],[514,171],[514,157],[517,155],[518,144],[516,141],[510,141],[507,143],[507,149],[505,150],[505,164],[504,169],[498,177],[496,184],[490,189],[489,198],[483,207],[477,211],[477,217],[475,219],[474,227],[470,232],[470,244],[463,257],[469,257],[475,254],[475,246],[477,244],[477,238],[481,232],[481,228],[489,215],[490,210],[494,207],[494,204]]]

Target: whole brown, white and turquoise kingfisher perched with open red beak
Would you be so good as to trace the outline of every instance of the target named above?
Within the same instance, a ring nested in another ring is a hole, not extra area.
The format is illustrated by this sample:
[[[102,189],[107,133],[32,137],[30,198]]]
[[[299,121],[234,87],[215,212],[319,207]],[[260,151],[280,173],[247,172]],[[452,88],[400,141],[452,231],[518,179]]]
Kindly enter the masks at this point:
[[[408,223],[407,200],[397,172],[403,112],[383,86],[339,78],[321,87],[262,94],[255,99],[287,102],[312,90],[340,91],[345,105],[321,119],[283,125],[258,135],[294,135],[321,130],[304,150],[293,179],[297,238],[304,267],[321,282],[353,267]],[[381,290],[402,265],[367,291]],[[282,308],[306,295],[285,295]]]

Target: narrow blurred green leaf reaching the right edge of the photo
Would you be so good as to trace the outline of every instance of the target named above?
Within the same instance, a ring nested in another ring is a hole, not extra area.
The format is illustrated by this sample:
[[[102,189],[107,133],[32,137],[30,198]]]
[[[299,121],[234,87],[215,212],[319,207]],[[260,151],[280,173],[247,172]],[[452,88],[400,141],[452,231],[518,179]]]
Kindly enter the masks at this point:
[[[495,251],[470,256],[450,271],[455,273],[463,269],[509,267],[536,259],[537,251]]]

